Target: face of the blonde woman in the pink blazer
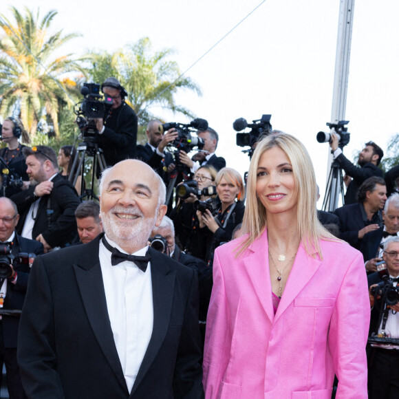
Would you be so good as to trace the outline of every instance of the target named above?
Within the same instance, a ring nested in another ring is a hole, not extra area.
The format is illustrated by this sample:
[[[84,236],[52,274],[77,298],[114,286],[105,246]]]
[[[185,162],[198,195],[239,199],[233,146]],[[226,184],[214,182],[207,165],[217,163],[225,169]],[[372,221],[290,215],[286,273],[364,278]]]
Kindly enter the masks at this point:
[[[296,213],[298,195],[292,165],[287,154],[279,147],[273,147],[261,155],[256,191],[268,213]]]

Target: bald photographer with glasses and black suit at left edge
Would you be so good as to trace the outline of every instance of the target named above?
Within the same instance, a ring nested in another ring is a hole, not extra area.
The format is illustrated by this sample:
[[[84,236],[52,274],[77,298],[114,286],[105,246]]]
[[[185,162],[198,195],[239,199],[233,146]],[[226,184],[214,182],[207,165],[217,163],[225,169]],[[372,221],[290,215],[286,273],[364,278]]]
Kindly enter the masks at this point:
[[[12,257],[17,257],[21,252],[26,255],[43,254],[43,244],[32,239],[25,239],[15,233],[19,215],[17,206],[6,197],[0,198],[0,246],[11,248]],[[18,258],[17,258],[18,259]],[[27,261],[25,257],[24,261]],[[7,314],[7,310],[18,311],[22,309],[25,300],[26,288],[30,272],[29,264],[17,262],[10,265],[10,275],[0,279],[0,369],[6,365],[7,387],[10,399],[23,399],[21,376],[17,363],[17,338],[19,314]],[[1,382],[0,382],[1,385]]]

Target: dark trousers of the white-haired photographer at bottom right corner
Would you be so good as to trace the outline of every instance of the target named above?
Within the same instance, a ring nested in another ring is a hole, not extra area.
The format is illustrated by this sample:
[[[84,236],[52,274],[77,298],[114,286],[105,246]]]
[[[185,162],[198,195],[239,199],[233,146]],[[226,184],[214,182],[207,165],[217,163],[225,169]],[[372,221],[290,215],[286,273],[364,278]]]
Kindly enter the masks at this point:
[[[399,351],[371,349],[369,399],[399,398]]]

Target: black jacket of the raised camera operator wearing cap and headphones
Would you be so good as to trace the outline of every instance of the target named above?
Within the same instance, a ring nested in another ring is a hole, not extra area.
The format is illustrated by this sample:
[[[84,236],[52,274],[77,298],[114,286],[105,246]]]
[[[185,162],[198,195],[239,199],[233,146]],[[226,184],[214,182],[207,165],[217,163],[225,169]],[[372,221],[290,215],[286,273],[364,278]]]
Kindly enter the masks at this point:
[[[98,135],[100,148],[104,151],[108,166],[134,158],[137,142],[137,116],[133,109],[123,102],[117,109],[112,109],[105,121],[103,134]]]

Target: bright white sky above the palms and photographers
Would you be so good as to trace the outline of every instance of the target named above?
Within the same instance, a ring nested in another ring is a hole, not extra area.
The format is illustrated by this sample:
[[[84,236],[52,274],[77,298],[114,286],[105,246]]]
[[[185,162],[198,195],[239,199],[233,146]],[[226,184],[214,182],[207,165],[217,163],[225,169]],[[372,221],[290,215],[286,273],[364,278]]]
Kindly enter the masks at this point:
[[[113,52],[143,36],[153,50],[172,47],[182,71],[194,63],[261,0],[2,1],[58,11],[52,24],[82,36],[65,52]],[[6,6],[7,5],[7,6]],[[183,93],[177,102],[208,120],[220,136],[217,153],[228,166],[248,170],[248,155],[235,144],[233,121],[272,114],[272,126],[298,137],[310,151],[323,195],[328,144],[316,133],[330,122],[338,29],[338,0],[266,0],[254,14],[188,72],[203,96]],[[398,132],[399,1],[358,0],[354,6],[347,110],[349,159],[368,140],[384,151]],[[100,83],[100,82],[99,82]],[[162,115],[161,115],[162,116]],[[165,114],[166,117],[166,114]],[[171,122],[186,122],[171,116]],[[321,206],[321,204],[319,204]]]

